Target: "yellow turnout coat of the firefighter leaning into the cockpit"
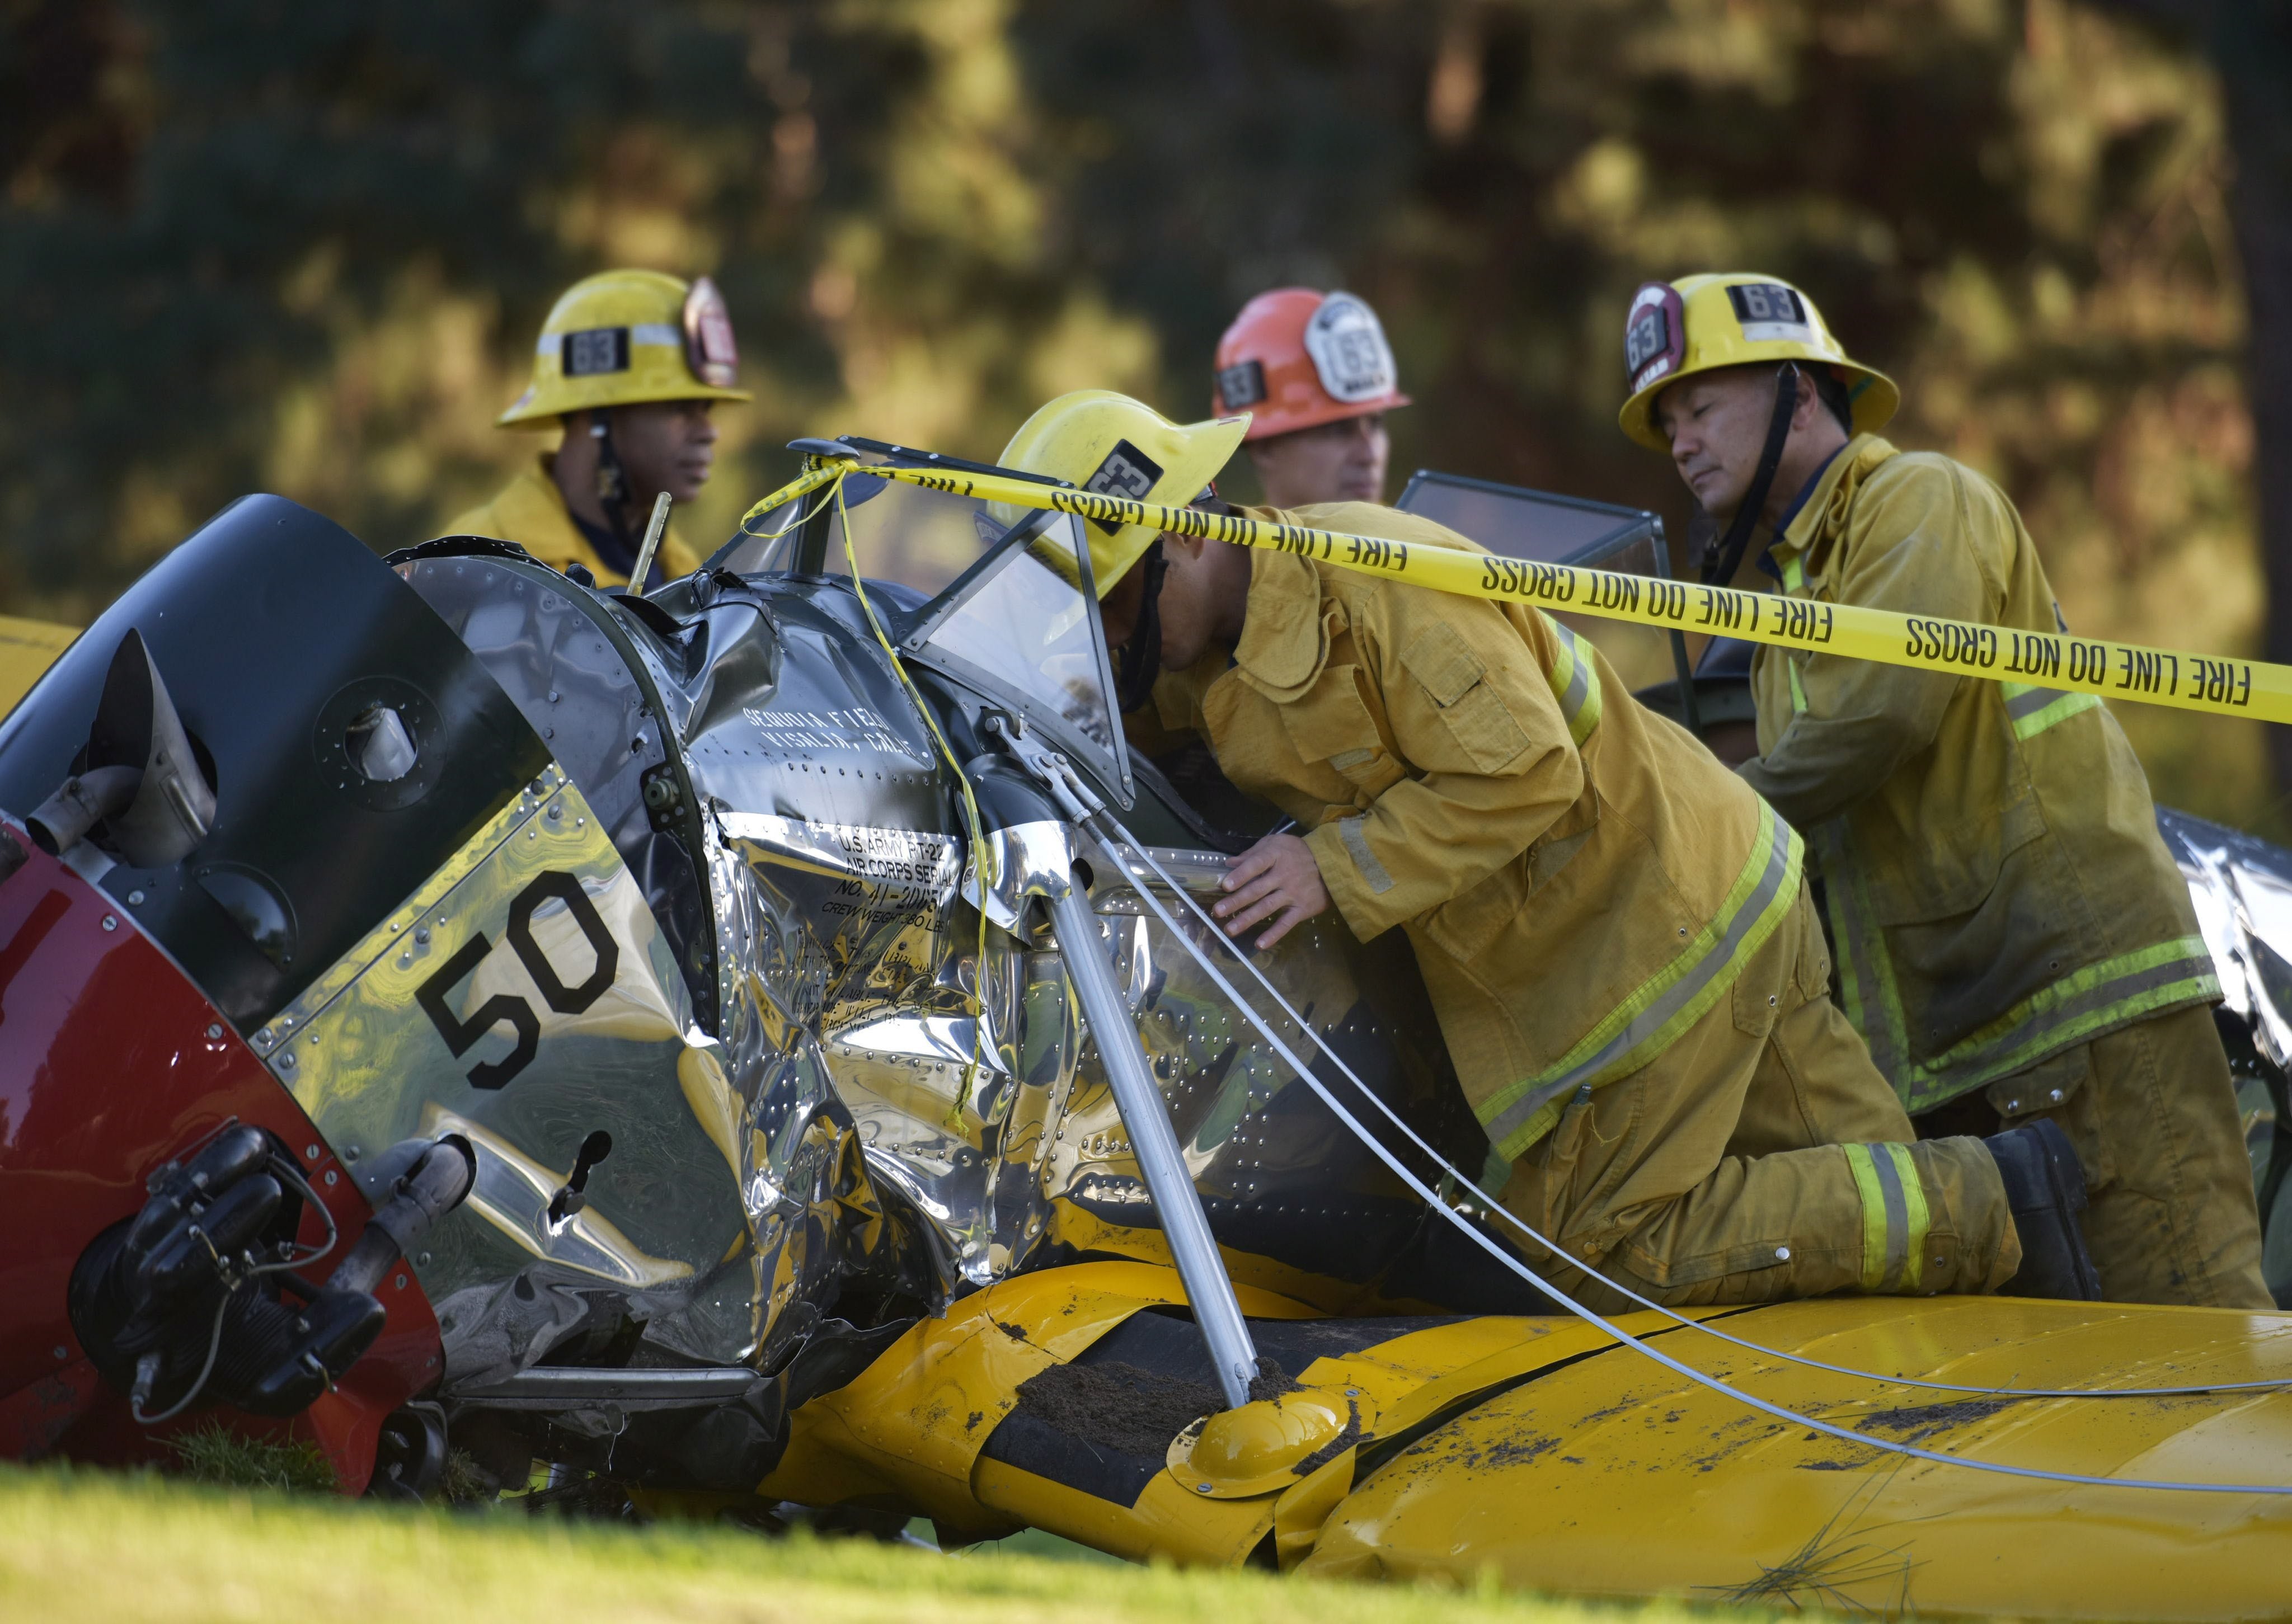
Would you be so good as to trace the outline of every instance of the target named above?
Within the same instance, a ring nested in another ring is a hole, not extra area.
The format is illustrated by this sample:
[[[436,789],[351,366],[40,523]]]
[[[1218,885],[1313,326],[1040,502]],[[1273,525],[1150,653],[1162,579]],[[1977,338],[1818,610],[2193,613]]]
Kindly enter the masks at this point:
[[[1368,504],[1284,518],[1471,547]],[[1290,813],[1361,939],[1410,932],[1490,1138],[1664,1051],[1799,893],[1799,836],[1588,641],[1526,605],[1251,557],[1233,667],[1155,689]]]

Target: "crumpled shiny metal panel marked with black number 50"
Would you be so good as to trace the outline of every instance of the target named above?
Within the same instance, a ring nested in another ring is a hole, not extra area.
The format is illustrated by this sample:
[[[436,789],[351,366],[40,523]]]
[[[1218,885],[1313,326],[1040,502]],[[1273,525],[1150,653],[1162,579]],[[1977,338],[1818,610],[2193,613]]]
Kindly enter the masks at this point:
[[[623,1322],[674,1358],[775,1367],[889,1239],[818,1040],[752,969],[772,932],[747,870],[717,870],[724,941],[743,944],[720,1035],[555,767],[257,1035],[353,1175],[410,1134],[477,1150],[470,1200],[413,1260],[449,1393]],[[594,1129],[612,1152],[584,1205],[552,1214]]]

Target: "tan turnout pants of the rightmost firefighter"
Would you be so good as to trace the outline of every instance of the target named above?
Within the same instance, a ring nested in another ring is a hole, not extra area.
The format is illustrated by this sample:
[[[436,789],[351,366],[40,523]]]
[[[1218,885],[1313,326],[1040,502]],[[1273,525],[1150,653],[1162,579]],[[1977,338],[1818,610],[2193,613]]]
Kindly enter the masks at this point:
[[[2274,1308],[2260,1212],[2209,1006],[2152,1015],[1918,1118],[1994,1134],[2049,1115],[2086,1168],[2086,1248],[2118,1303]],[[1934,1141],[1948,1143],[1948,1141]]]

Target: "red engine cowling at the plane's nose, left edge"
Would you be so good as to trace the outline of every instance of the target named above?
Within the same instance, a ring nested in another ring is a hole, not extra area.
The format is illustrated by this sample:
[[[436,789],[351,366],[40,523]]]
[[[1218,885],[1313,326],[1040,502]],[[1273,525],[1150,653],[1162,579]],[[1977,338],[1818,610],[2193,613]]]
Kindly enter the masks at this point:
[[[314,1441],[342,1489],[362,1493],[385,1418],[440,1377],[438,1319],[413,1269],[392,1267],[374,1292],[387,1315],[374,1347],[289,1420],[206,1406],[142,1427],[80,1347],[66,1301],[80,1255],[138,1214],[158,1168],[231,1118],[291,1150],[335,1219],[337,1258],[374,1209],[293,1097],[128,912],[21,827],[11,834],[25,861],[0,880],[0,1454],[133,1464],[222,1418],[250,1436]],[[305,1209],[298,1239],[323,1237]]]

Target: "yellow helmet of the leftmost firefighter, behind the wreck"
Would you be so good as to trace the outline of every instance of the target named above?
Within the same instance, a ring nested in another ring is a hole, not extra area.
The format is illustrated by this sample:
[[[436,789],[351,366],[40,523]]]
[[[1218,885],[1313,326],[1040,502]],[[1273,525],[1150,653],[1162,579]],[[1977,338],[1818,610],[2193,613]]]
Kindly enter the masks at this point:
[[[740,350],[715,282],[601,270],[568,286],[534,346],[534,380],[497,428],[548,428],[566,412],[642,401],[752,401],[733,389]]]

